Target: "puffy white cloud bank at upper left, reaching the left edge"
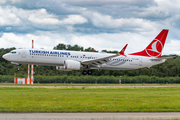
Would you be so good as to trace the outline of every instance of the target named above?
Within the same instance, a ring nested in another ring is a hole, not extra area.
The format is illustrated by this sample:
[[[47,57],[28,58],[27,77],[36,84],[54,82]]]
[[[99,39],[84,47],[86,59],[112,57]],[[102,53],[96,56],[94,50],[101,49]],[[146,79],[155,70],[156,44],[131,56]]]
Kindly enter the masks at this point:
[[[11,6],[0,6],[0,26],[36,26],[48,28],[46,25],[50,25],[49,28],[51,28],[53,25],[61,25],[68,28],[68,30],[73,30],[72,25],[86,22],[88,20],[81,15],[67,15],[66,18],[60,20],[57,15],[49,14],[46,9],[24,10]]]

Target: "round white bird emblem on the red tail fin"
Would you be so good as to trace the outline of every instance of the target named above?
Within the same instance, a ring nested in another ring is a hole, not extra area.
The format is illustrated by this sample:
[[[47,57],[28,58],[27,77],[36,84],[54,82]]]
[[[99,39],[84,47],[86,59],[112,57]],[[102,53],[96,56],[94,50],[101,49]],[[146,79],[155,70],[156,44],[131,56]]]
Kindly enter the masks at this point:
[[[150,57],[158,57],[161,55],[163,44],[158,39],[154,39],[153,42],[145,49],[146,53]]]

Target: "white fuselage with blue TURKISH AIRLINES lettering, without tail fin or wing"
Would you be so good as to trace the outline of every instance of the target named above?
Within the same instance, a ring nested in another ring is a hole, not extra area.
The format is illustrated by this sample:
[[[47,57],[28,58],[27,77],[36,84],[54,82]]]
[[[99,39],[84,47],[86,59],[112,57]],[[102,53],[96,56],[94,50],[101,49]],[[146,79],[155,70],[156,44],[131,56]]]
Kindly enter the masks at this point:
[[[93,60],[112,56],[109,53],[67,51],[67,50],[45,50],[45,49],[17,49],[3,56],[8,61],[19,64],[35,64],[48,66],[63,66],[64,61],[74,60],[80,63],[85,60]],[[98,66],[98,69],[108,70],[131,70],[143,67],[151,67],[165,62],[165,59],[151,60],[150,57],[142,56],[117,56],[110,58],[110,61]],[[91,67],[90,69],[97,69]]]

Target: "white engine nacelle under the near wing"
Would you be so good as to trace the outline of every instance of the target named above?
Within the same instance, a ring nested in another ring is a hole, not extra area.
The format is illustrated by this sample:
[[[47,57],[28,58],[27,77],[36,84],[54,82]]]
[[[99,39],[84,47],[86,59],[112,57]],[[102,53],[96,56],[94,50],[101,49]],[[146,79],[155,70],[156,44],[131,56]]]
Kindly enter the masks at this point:
[[[66,70],[80,70],[81,63],[74,60],[66,60],[64,61],[64,69]]]

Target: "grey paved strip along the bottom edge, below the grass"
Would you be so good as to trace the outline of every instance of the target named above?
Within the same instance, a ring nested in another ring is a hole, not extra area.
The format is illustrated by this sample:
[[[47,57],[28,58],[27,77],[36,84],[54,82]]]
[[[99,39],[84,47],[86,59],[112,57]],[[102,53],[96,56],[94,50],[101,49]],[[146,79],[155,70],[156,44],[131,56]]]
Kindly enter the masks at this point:
[[[0,113],[1,120],[175,119],[180,112],[160,113]]]

